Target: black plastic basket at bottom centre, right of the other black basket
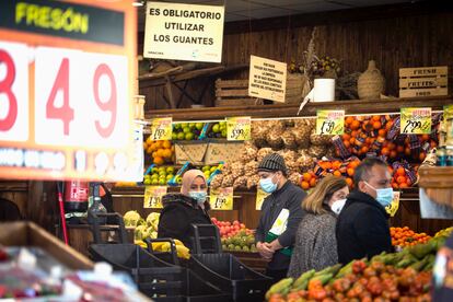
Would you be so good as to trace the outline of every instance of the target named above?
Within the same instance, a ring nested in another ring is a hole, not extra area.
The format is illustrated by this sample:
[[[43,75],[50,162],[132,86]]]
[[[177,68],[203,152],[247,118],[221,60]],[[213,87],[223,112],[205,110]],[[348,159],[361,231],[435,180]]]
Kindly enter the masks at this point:
[[[248,268],[231,254],[193,255],[187,267],[229,292],[233,301],[264,301],[272,283],[271,278]]]

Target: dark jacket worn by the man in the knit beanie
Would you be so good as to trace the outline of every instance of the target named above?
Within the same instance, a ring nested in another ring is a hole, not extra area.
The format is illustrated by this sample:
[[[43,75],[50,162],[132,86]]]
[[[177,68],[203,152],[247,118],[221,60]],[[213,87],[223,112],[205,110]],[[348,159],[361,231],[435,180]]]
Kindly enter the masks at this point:
[[[278,241],[283,247],[294,245],[295,232],[302,220],[303,211],[301,202],[306,194],[300,188],[287,182],[280,189],[274,191],[265,198],[262,206],[262,216],[258,226],[256,228],[256,242],[265,242],[266,234],[272,228],[274,222],[282,209],[288,209],[290,214],[288,218],[287,230],[280,234]],[[272,259],[268,264],[268,269],[280,270],[288,269],[291,257],[279,253],[274,254]]]

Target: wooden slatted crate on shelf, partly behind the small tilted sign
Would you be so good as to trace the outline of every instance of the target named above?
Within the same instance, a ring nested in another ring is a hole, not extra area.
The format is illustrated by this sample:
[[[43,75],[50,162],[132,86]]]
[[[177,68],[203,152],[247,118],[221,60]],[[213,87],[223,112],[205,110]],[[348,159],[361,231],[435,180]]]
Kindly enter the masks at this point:
[[[216,107],[263,105],[263,100],[248,96],[248,80],[216,80]]]

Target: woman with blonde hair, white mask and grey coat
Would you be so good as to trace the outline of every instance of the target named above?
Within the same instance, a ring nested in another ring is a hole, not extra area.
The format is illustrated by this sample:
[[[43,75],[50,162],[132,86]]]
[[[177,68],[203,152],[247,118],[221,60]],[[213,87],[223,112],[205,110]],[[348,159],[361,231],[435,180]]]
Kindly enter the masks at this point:
[[[327,176],[302,202],[305,216],[295,234],[289,277],[298,278],[307,270],[338,263],[335,225],[348,194],[345,178]]]

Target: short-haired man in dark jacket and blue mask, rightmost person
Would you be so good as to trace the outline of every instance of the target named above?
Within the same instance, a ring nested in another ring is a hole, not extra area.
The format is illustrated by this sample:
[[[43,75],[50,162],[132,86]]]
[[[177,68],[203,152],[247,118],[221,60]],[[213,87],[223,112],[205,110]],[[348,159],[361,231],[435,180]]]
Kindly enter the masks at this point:
[[[392,251],[385,211],[393,200],[391,179],[387,164],[376,158],[363,160],[356,169],[356,190],[348,196],[337,220],[339,263]]]

